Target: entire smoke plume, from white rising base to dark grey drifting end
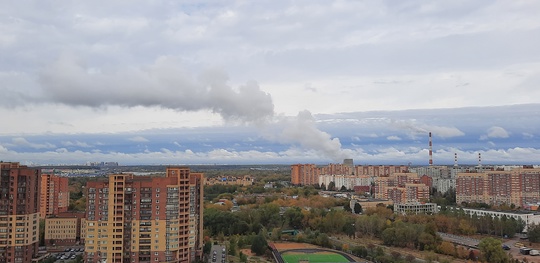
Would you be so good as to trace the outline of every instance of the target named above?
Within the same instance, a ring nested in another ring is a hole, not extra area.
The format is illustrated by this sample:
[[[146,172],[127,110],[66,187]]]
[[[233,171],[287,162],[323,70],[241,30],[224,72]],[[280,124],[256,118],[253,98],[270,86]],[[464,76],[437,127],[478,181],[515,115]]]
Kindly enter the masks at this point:
[[[270,94],[256,82],[234,90],[227,85],[227,75],[219,70],[205,71],[194,79],[170,58],[159,58],[146,67],[106,71],[62,56],[43,71],[40,81],[48,102],[96,108],[114,105],[211,110],[226,121],[256,125],[267,139],[299,145],[335,161],[346,158],[339,139],[317,129],[309,111],[295,118],[277,117]]]

